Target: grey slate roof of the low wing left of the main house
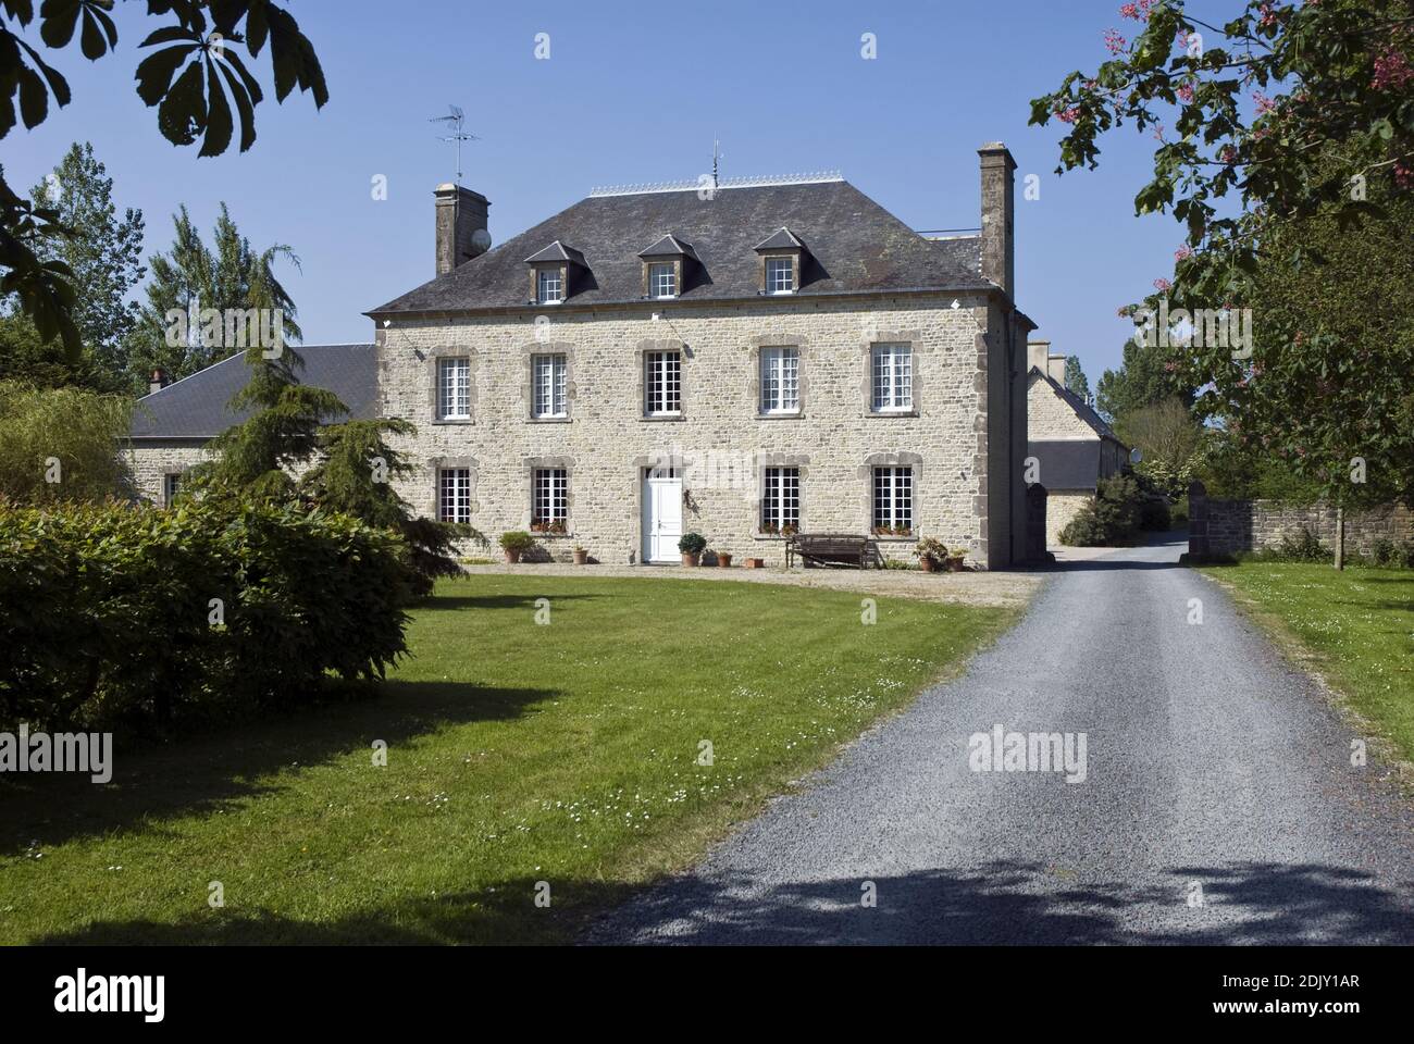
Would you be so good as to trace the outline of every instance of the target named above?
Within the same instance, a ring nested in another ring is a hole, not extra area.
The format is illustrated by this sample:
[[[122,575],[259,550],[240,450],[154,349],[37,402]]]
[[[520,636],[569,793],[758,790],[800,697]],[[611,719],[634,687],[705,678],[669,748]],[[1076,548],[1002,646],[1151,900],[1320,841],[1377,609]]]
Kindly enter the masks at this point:
[[[349,417],[378,416],[378,355],[370,344],[293,345],[304,359],[300,383],[334,392]],[[250,416],[233,413],[230,396],[246,386],[250,368],[243,355],[206,366],[137,400],[133,439],[211,439]]]

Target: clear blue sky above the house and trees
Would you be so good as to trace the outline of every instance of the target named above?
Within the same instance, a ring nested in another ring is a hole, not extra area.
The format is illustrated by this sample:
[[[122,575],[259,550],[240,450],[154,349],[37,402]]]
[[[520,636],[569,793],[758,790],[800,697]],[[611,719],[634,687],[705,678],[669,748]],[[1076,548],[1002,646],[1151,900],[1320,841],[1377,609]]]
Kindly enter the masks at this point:
[[[465,146],[464,184],[491,199],[498,243],[594,185],[696,178],[714,136],[725,175],[839,168],[913,228],[976,226],[976,150],[1000,139],[1018,164],[1018,304],[1038,337],[1080,356],[1093,388],[1133,331],[1116,308],[1169,274],[1181,229],[1134,216],[1151,139],[1126,129],[1099,171],[1058,178],[1059,134],[1027,119],[1031,98],[1106,57],[1107,27],[1130,35],[1118,6],[293,0],[329,105],[277,106],[267,91],[255,149],[199,160],[167,144],[133,92],[137,42],[157,23],[119,4],[119,54],[92,65],[64,54],[74,103],[11,132],[4,166],[28,187],[71,141],[90,140],[119,205],[144,211],[148,252],[168,248],[180,204],[209,228],[226,201],[255,245],[300,256],[303,270],[281,274],[315,344],[370,340],[362,313],[431,277],[431,190],[454,160],[428,117],[448,102],[481,136]],[[1220,16],[1233,4],[1208,6]],[[549,61],[534,57],[537,33]],[[877,38],[872,61],[864,33]],[[1032,173],[1041,198],[1025,201],[1019,178]],[[385,201],[370,192],[379,174]]]

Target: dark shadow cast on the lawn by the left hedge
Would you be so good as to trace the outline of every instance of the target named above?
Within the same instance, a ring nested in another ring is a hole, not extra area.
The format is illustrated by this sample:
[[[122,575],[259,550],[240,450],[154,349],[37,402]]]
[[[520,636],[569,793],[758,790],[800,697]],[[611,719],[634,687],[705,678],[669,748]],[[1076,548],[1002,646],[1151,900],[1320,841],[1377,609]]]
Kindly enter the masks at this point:
[[[561,695],[554,689],[392,680],[376,699],[184,736],[168,747],[144,746],[124,754],[116,740],[113,778],[106,785],[82,774],[7,774],[0,784],[0,854],[24,852],[31,840],[54,846],[154,819],[211,815],[232,801],[283,788],[279,781],[257,782],[280,770],[369,751],[373,740],[396,748],[444,726],[509,721]]]

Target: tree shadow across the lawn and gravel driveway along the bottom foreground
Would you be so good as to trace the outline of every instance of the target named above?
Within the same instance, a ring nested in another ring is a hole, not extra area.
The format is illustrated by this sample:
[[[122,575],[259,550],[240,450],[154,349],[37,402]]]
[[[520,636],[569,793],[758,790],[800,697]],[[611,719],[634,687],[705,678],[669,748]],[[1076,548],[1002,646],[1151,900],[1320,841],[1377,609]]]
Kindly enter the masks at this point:
[[[1414,938],[1407,900],[1345,867],[1241,863],[1172,867],[1157,884],[1058,888],[1039,863],[998,860],[969,871],[754,887],[748,874],[670,878],[639,891],[598,880],[536,881],[399,901],[329,922],[236,905],[173,924],[99,921],[41,944],[543,944],[590,945],[1299,945],[1397,944]],[[1186,903],[1191,881],[1205,904]],[[194,897],[194,903],[201,901]],[[1138,910],[1137,910],[1138,908]],[[608,911],[608,912],[605,912]]]

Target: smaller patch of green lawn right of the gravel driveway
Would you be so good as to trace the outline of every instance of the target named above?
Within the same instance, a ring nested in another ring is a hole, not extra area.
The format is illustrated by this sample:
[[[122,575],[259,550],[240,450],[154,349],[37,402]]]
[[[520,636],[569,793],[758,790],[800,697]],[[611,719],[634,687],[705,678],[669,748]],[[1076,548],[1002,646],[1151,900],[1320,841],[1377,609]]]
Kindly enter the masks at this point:
[[[1205,572],[1299,644],[1350,707],[1414,761],[1414,573],[1258,562]]]

